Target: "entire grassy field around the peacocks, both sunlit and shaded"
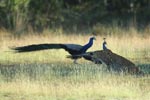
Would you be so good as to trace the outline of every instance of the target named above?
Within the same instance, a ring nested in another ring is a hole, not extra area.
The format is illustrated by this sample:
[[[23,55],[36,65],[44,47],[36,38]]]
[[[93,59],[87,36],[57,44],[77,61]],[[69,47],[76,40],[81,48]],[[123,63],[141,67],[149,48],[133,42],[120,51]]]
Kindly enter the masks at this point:
[[[85,44],[90,35],[29,35],[0,32],[1,100],[150,100],[150,76],[109,73],[104,65],[80,59],[73,64],[64,50],[14,53],[9,47],[38,43]],[[101,50],[97,36],[89,51]],[[108,48],[150,73],[150,36],[105,36]]]

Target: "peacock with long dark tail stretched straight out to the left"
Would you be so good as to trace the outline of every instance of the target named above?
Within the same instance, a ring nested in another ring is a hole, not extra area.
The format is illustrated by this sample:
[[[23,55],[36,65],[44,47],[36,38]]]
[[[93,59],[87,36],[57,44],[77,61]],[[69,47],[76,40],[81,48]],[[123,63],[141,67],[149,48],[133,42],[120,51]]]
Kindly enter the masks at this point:
[[[62,43],[54,43],[54,44],[32,44],[27,46],[21,46],[21,47],[13,47],[12,50],[15,50],[17,53],[22,52],[32,52],[32,51],[39,51],[39,50],[46,50],[46,49],[64,49],[69,54],[73,55],[79,55],[85,53],[92,45],[93,41],[96,40],[95,37],[90,37],[89,42],[85,45],[79,45],[79,44],[62,44]],[[80,57],[72,57],[74,60],[74,63],[77,63],[77,59]]]

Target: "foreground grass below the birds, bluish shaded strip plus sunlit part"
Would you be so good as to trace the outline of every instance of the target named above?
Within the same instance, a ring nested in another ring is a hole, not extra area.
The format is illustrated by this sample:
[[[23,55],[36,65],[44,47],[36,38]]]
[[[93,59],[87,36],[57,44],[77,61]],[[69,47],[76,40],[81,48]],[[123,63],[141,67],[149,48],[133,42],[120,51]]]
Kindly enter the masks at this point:
[[[103,72],[101,67],[88,63],[80,66],[65,63],[1,66],[4,72],[0,79],[1,98],[149,99],[149,77],[118,76]]]

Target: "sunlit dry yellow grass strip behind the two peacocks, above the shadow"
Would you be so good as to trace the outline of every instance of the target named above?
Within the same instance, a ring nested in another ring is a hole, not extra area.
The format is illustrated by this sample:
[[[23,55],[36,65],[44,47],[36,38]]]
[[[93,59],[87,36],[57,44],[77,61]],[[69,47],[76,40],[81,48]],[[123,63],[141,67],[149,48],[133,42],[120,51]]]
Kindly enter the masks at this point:
[[[135,32],[135,31],[134,31]],[[25,53],[25,54],[12,54],[10,52],[4,52],[4,51],[10,51],[9,47],[15,47],[15,46],[24,46],[24,45],[31,45],[31,44],[41,44],[41,43],[74,43],[74,44],[81,44],[84,45],[88,42],[89,38],[92,35],[55,35],[56,33],[49,33],[48,31],[45,31],[43,35],[27,35],[27,36],[21,36],[20,38],[16,38],[11,36],[7,32],[1,32],[0,37],[0,52],[3,52],[1,59],[5,60],[6,56],[10,57],[10,60],[16,58],[16,55],[18,58],[26,59],[26,57],[32,56],[33,58],[39,58],[38,60],[48,60],[51,58],[56,58],[55,60],[51,59],[52,61],[59,61],[59,59],[66,61],[65,56],[68,55],[64,50],[50,50],[50,51],[40,51],[35,53]],[[128,33],[126,33],[128,34]],[[136,33],[133,33],[136,34]],[[102,42],[103,37],[107,38],[107,47],[112,50],[113,52],[122,55],[124,57],[127,57],[128,59],[135,60],[138,59],[146,59],[147,62],[149,62],[150,58],[150,36],[142,37],[140,35],[125,35],[125,36],[96,36],[97,40],[94,41],[94,45],[88,50],[88,51],[95,51],[95,50],[102,50]],[[57,53],[58,52],[58,53]],[[11,56],[9,56],[11,55]],[[19,56],[18,56],[19,55]],[[45,55],[48,55],[49,57]],[[60,57],[60,55],[62,57]],[[26,56],[26,57],[24,57]],[[50,57],[52,56],[52,57]],[[58,59],[57,59],[58,58]],[[25,60],[24,59],[24,60]],[[26,59],[28,60],[28,58]],[[37,60],[37,62],[38,62]],[[36,61],[36,60],[35,60]],[[137,61],[136,61],[137,62]]]

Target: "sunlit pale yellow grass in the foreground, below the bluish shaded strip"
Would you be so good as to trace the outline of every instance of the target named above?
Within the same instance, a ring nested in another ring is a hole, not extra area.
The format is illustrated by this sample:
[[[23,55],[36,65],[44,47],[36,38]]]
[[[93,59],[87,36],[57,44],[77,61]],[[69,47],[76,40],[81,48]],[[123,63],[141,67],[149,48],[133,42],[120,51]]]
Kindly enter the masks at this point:
[[[124,83],[121,81],[124,81]],[[126,77],[119,77],[119,79],[116,79],[116,77],[107,77],[106,79],[85,81],[83,83],[75,83],[74,81],[72,83],[66,81],[57,81],[57,83],[43,81],[31,82],[26,80],[1,83],[0,92],[16,98],[15,100],[21,100],[17,95],[25,98],[25,100],[32,100],[35,97],[39,98],[37,100],[46,100],[48,98],[50,100],[109,100],[117,98],[121,100],[149,100],[148,89],[145,89],[148,86],[142,90],[139,85],[139,81]]]

